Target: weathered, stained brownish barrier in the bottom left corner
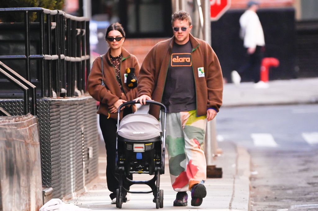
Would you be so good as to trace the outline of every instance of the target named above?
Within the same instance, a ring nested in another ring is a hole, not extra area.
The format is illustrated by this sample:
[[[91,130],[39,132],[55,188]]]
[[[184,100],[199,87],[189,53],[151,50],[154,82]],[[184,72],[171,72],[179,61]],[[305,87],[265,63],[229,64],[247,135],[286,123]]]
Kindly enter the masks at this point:
[[[38,118],[0,117],[0,210],[38,211],[42,205]]]

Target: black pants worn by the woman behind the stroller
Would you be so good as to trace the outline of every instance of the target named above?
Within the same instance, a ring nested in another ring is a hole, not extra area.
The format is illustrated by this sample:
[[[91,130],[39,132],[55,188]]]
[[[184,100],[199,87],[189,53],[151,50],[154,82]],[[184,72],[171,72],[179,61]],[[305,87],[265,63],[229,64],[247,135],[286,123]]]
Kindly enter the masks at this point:
[[[131,107],[124,108],[124,116],[131,114]],[[118,175],[115,174],[115,162],[116,162],[116,132],[117,132],[117,120],[109,118],[100,114],[100,129],[103,134],[105,141],[106,154],[107,154],[107,187],[112,193],[109,197],[113,200],[116,198],[116,189],[118,189]],[[132,180],[133,175],[127,176],[128,179]],[[129,190],[129,187],[125,184],[126,176],[123,176],[123,187]]]

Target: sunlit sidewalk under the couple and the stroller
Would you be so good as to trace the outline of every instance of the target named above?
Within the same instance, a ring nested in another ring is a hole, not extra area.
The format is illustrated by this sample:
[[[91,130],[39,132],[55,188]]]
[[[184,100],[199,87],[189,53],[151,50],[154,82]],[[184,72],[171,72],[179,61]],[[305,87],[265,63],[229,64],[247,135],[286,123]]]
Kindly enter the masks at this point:
[[[217,167],[223,170],[220,179],[208,178],[205,182],[207,196],[200,207],[190,205],[191,196],[188,192],[187,207],[173,207],[176,192],[172,189],[169,177],[168,157],[165,162],[165,174],[160,176],[160,189],[164,191],[164,210],[238,210],[248,211],[249,205],[249,174],[250,157],[244,148],[236,147],[230,142],[220,142],[219,147],[223,154],[215,160]],[[87,192],[79,195],[66,203],[73,203],[80,208],[92,210],[119,210],[116,205],[110,204],[109,190],[106,184],[106,150],[104,143],[100,142],[99,178],[87,187]],[[149,180],[150,175],[134,174],[134,180]],[[149,191],[146,185],[133,185],[132,191]],[[152,202],[152,194],[132,194],[131,200],[122,204],[122,210],[156,210]],[[159,208],[160,210],[161,208]]]

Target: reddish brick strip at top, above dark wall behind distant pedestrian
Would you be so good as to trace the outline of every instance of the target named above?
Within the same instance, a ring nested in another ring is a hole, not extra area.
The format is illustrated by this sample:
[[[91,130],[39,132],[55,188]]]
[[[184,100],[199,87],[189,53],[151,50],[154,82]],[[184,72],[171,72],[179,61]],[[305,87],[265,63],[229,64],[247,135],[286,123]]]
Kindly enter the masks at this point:
[[[249,0],[231,0],[231,9],[245,9]],[[260,7],[289,7],[294,0],[261,0]]]

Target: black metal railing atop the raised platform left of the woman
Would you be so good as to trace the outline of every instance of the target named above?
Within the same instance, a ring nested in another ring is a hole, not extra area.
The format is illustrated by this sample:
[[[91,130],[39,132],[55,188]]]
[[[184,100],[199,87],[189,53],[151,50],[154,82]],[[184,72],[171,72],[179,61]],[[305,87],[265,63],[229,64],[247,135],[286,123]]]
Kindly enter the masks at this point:
[[[24,33],[24,51],[20,48],[20,51],[14,52],[18,55],[9,55],[1,49],[0,61],[24,60],[25,65],[15,70],[17,75],[25,76],[27,81],[37,86],[37,98],[52,98],[54,93],[57,97],[73,97],[78,96],[77,90],[86,93],[90,69],[89,19],[72,16],[61,10],[0,8],[0,13],[8,12],[23,12],[24,24],[0,23],[0,33],[12,29]],[[29,15],[32,12],[37,13],[38,22],[30,23]],[[10,42],[10,38],[0,41]],[[21,40],[12,43],[21,43]],[[35,71],[31,63],[36,66]],[[9,64],[7,66],[10,67]],[[5,87],[1,86],[0,90]],[[0,98],[12,98],[10,90],[5,91],[3,93],[9,94],[2,94]]]

